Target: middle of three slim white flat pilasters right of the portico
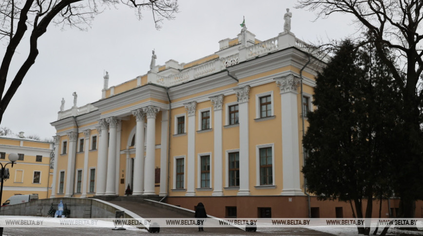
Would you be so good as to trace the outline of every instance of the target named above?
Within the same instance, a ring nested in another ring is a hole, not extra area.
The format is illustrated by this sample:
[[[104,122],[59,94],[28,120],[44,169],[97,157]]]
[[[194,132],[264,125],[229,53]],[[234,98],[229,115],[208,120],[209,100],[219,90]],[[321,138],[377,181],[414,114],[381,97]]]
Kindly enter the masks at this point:
[[[222,105],[223,95],[211,97],[211,104],[214,109],[214,186],[212,196],[223,196],[222,191]]]

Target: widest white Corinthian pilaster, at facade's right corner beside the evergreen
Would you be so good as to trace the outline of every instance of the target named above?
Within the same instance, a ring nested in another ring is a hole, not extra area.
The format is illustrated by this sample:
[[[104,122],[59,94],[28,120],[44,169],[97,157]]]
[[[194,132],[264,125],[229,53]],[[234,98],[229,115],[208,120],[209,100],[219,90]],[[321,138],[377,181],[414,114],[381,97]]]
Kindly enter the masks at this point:
[[[297,87],[300,78],[289,74],[275,80],[280,89],[282,111],[283,189],[281,195],[304,195],[300,187],[300,146],[298,141]]]

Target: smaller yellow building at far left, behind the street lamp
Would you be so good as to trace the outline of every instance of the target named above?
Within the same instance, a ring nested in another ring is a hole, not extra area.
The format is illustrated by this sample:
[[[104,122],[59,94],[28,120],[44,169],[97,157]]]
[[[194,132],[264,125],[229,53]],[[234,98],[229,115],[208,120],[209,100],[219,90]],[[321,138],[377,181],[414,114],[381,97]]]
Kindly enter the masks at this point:
[[[52,151],[52,143],[26,139],[23,135],[0,136],[0,163],[9,169],[10,175],[3,184],[1,203],[13,195],[38,194],[39,199],[50,197],[53,180],[53,169],[50,166]],[[8,159],[10,153],[20,156],[13,167]]]

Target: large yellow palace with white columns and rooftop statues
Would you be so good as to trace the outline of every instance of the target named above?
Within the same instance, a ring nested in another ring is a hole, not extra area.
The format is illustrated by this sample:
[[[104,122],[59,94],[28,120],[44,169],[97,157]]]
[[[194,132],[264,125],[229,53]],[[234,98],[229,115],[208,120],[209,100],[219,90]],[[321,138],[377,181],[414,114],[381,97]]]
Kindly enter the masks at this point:
[[[52,197],[163,196],[217,217],[335,217],[349,203],[308,198],[302,136],[326,59],[285,30],[244,26],[216,53],[169,60],[98,101],[58,112]],[[307,192],[307,191],[306,191]],[[330,208],[330,209],[329,209]],[[344,210],[343,210],[344,209]],[[350,215],[346,215],[351,217]]]

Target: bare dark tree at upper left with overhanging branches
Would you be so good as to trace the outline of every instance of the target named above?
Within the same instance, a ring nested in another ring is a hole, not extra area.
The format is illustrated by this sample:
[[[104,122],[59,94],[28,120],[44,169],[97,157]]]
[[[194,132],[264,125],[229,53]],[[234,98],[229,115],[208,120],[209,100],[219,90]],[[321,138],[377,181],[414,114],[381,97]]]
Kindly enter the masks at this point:
[[[177,0],[3,0],[0,2],[0,39],[7,48],[0,66],[0,123],[4,110],[15,95],[28,70],[38,56],[38,39],[51,24],[84,30],[105,7],[123,3],[132,7],[141,18],[143,10],[153,13],[156,29],[163,19],[173,19],[178,11]],[[26,36],[27,35],[27,36]],[[5,88],[10,63],[23,37],[29,37],[26,60]]]

